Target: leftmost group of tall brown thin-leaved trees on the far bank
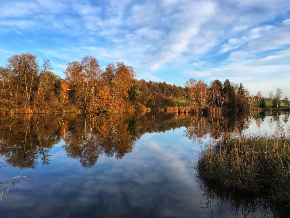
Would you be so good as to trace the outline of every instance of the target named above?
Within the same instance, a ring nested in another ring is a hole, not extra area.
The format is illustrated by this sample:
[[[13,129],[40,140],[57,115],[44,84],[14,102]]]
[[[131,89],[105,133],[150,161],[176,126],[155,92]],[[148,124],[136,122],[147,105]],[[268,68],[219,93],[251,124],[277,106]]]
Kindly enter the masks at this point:
[[[49,70],[50,60],[39,67],[36,56],[13,55],[6,68],[0,67],[1,111],[52,112],[57,109],[60,77]],[[1,87],[2,86],[2,87]],[[15,111],[15,110],[14,110]]]

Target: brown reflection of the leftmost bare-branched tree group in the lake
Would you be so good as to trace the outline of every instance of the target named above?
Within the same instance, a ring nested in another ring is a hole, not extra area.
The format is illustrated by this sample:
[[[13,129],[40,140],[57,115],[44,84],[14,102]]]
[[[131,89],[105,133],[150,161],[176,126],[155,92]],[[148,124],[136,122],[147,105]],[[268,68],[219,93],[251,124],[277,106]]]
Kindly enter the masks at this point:
[[[54,117],[1,117],[1,153],[9,165],[35,168],[37,158],[49,163],[49,150],[60,141],[59,123]]]

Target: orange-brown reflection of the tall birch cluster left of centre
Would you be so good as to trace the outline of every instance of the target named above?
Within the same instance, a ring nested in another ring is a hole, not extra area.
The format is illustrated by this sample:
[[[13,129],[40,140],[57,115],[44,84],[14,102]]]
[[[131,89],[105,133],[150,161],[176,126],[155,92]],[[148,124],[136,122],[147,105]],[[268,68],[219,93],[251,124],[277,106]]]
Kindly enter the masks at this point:
[[[130,122],[122,114],[75,117],[62,124],[67,155],[77,158],[83,167],[92,167],[103,154],[122,159],[135,145],[136,136],[131,132],[137,127],[129,126]]]

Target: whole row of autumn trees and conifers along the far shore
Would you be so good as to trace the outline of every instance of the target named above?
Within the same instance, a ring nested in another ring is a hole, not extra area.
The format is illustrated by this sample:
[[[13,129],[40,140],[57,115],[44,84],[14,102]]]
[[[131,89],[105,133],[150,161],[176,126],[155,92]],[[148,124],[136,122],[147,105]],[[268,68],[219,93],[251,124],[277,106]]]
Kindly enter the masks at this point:
[[[228,79],[210,84],[189,79],[184,87],[135,79],[132,67],[117,62],[101,69],[92,56],[68,63],[66,79],[50,60],[13,55],[0,67],[0,113],[249,110],[249,91]],[[183,100],[183,101],[182,101]],[[182,109],[183,108],[183,109]]]

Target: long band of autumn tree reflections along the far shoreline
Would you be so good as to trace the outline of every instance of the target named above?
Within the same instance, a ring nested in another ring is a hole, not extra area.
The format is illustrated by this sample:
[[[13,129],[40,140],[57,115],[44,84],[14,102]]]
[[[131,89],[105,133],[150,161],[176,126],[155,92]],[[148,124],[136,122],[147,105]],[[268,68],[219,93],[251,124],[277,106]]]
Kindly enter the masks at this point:
[[[264,114],[259,117],[263,121]],[[185,136],[201,140],[206,135],[218,138],[224,131],[241,134],[255,116],[240,114],[184,115],[177,113],[116,113],[98,116],[26,115],[1,116],[0,141],[2,157],[9,165],[35,168],[50,161],[49,151],[64,140],[67,156],[77,158],[83,167],[92,167],[106,155],[117,159],[131,152],[135,141],[145,133],[165,132],[185,127]],[[272,115],[270,121],[279,121]]]

